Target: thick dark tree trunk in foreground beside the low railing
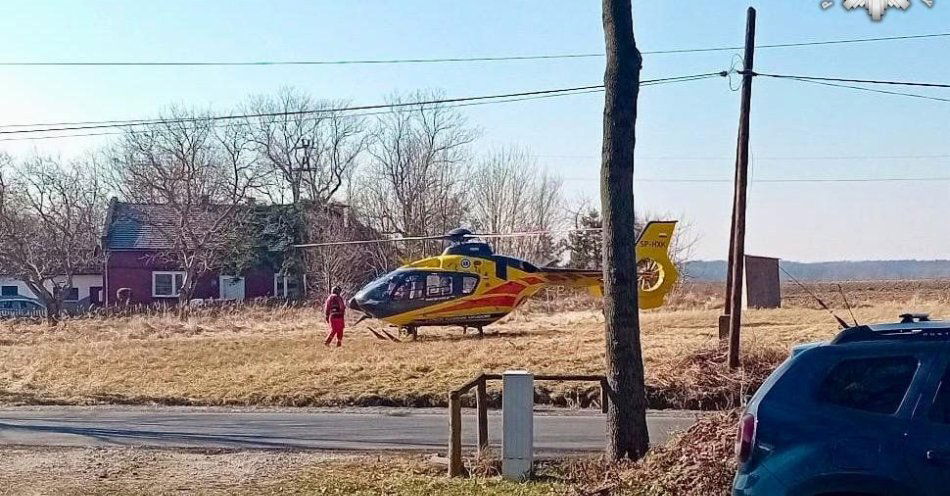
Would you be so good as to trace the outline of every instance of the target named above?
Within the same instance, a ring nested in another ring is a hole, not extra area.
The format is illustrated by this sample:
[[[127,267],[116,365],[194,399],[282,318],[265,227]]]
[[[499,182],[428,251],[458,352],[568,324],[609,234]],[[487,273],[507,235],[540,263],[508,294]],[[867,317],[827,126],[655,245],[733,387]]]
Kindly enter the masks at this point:
[[[604,332],[609,385],[607,457],[639,459],[649,447],[633,219],[633,149],[642,58],[630,0],[603,0],[607,68],[600,175]]]

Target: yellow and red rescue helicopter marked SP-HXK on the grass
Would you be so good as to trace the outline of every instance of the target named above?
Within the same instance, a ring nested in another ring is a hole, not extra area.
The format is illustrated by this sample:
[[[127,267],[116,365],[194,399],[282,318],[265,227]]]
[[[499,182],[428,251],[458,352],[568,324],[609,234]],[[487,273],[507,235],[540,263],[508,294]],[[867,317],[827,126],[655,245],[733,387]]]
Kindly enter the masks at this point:
[[[637,277],[641,309],[663,305],[679,273],[669,249],[675,221],[650,222],[637,239]],[[455,229],[445,236],[372,242],[442,239],[445,251],[399,267],[360,289],[347,306],[363,312],[360,321],[375,318],[416,337],[424,326],[482,328],[508,315],[541,289],[551,286],[587,288],[603,295],[600,270],[537,267],[519,258],[498,255],[483,238],[511,234],[473,234]],[[356,242],[298,245],[300,248]],[[374,331],[375,333],[375,331]],[[388,333],[387,333],[388,335]],[[377,334],[377,337],[379,335]]]

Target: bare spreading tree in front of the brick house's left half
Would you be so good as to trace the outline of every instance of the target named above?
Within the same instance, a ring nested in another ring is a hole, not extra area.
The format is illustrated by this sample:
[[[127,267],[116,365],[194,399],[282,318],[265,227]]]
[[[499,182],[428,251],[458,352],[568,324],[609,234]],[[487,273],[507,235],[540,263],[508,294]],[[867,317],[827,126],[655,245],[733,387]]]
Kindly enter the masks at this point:
[[[163,120],[127,131],[110,159],[115,189],[139,204],[130,215],[167,246],[154,261],[185,272],[179,297],[191,299],[198,280],[232,261],[247,241],[246,199],[263,171],[245,129],[173,108]]]

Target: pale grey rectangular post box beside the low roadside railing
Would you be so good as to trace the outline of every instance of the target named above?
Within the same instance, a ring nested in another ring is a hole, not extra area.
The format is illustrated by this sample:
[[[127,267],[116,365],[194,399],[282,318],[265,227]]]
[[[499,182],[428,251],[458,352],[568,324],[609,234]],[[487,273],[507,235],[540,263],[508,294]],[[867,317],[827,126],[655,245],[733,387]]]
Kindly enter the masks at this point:
[[[525,481],[534,464],[534,374],[508,370],[501,396],[501,474]]]

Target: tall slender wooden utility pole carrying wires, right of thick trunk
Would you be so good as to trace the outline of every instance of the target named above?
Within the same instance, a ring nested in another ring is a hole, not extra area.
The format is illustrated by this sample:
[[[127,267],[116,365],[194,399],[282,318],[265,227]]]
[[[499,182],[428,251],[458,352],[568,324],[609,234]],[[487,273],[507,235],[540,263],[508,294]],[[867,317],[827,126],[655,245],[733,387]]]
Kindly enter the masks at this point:
[[[742,70],[742,103],[739,111],[739,142],[736,147],[736,194],[732,219],[732,273],[729,276],[729,368],[739,366],[739,336],[742,329],[742,279],[745,266],[746,188],[749,181],[749,114],[752,107],[755,60],[755,9],[749,7],[745,27]]]

